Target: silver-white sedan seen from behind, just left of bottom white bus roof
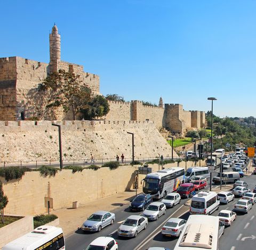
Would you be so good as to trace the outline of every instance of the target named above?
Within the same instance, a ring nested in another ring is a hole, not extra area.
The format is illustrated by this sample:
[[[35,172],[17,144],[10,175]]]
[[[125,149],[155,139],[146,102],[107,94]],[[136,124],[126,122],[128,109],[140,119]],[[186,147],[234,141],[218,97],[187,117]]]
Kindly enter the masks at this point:
[[[179,237],[183,228],[185,227],[186,220],[179,218],[171,218],[166,221],[162,228],[162,236]]]

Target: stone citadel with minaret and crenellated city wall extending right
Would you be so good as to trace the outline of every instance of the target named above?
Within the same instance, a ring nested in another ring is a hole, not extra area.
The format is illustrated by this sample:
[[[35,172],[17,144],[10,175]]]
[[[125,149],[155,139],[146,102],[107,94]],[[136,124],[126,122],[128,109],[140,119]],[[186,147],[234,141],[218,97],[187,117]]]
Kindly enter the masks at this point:
[[[19,121],[36,117],[38,120],[71,120],[70,113],[58,109],[46,111],[44,99],[37,86],[50,73],[58,70],[79,74],[93,94],[100,94],[99,76],[84,72],[82,65],[61,61],[60,34],[53,26],[50,36],[50,62],[43,63],[18,56],[0,58],[0,120]],[[160,98],[158,107],[142,105],[141,101],[109,102],[105,120],[153,121],[156,128],[169,128],[184,134],[187,129],[202,128],[204,111],[185,111],[181,104],[165,104]]]

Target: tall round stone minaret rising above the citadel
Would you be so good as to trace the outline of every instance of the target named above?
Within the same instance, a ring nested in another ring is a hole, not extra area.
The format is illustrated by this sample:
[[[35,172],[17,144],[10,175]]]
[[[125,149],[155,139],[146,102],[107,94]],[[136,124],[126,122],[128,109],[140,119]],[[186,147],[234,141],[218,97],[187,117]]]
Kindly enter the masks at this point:
[[[52,27],[50,37],[50,73],[58,71],[60,63],[60,34],[57,26]]]

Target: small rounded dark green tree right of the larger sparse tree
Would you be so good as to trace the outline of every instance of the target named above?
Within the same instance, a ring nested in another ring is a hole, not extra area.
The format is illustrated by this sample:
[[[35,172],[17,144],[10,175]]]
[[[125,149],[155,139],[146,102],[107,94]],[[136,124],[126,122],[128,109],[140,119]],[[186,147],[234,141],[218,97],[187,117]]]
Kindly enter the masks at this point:
[[[108,101],[101,95],[94,96],[93,99],[80,110],[80,112],[86,120],[101,117],[109,112]]]

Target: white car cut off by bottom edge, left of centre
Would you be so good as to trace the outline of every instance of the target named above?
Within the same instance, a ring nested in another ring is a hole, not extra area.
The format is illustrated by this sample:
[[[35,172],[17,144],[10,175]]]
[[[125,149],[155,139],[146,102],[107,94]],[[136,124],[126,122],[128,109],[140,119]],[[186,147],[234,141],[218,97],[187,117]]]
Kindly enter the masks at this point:
[[[98,237],[97,239],[94,239],[92,243],[86,248],[86,250],[98,249],[117,250],[118,245],[115,239],[111,237]]]

